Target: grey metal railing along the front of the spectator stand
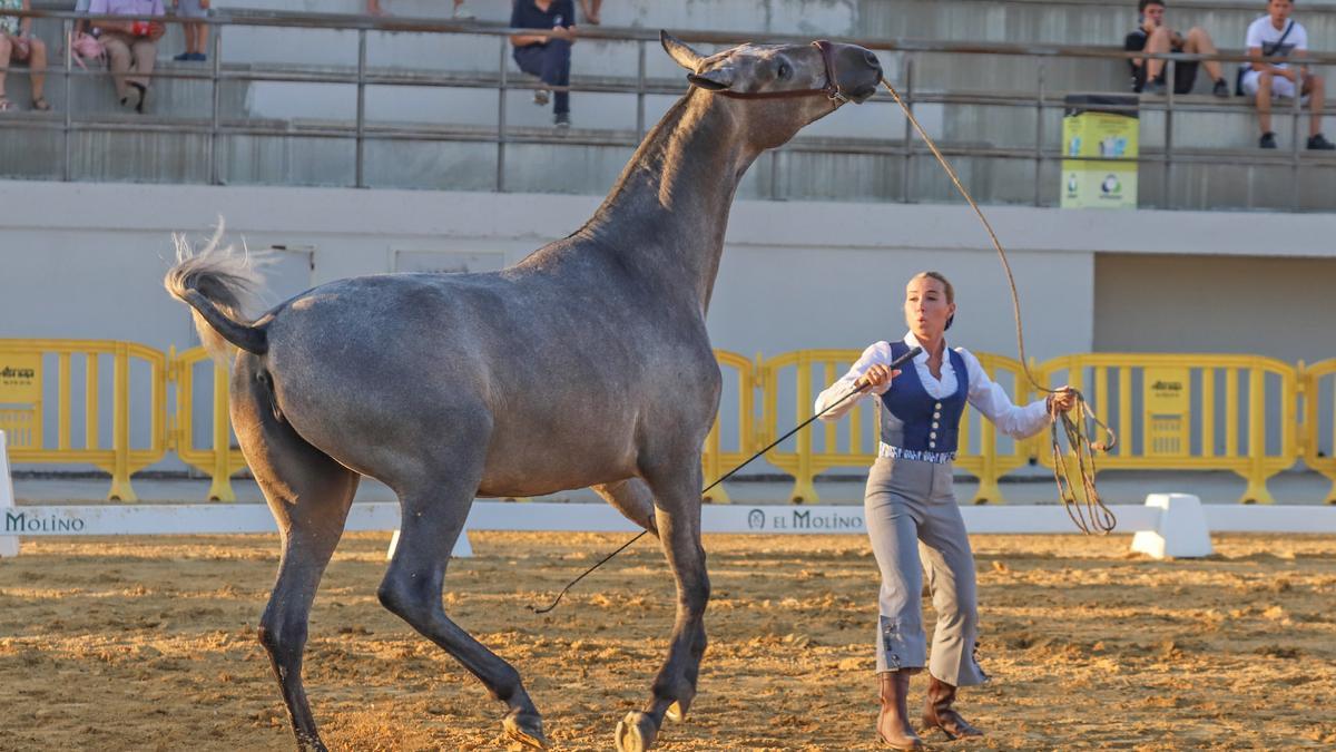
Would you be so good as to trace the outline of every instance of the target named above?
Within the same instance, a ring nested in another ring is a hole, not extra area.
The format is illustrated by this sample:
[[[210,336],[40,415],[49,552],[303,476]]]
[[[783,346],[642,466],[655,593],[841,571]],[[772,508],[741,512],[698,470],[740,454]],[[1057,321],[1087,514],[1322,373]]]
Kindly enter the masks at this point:
[[[12,13],[12,12],[11,12]],[[69,12],[56,12],[35,9],[17,12],[17,15],[37,19],[56,19],[65,31],[69,31],[77,19],[91,16],[75,15]],[[168,19],[170,20],[170,19]],[[207,118],[187,119],[136,119],[134,122],[108,119],[106,116],[79,116],[72,112],[72,98],[69,82],[80,76],[106,75],[100,71],[81,71],[72,64],[68,44],[61,60],[61,70],[57,75],[65,78],[65,102],[60,115],[49,118],[3,118],[0,128],[57,128],[63,134],[63,162],[61,178],[69,181],[72,175],[72,135],[87,131],[136,131],[136,132],[170,132],[195,134],[207,136],[204,159],[207,162],[208,181],[222,183],[227,175],[220,174],[222,139],[232,136],[282,136],[282,138],[315,138],[315,139],[347,139],[355,142],[354,177],[351,185],[366,187],[366,145],[374,140],[421,140],[421,142],[482,142],[496,146],[496,173],[493,189],[508,190],[506,185],[506,151],[509,146],[521,143],[560,143],[566,146],[621,146],[632,147],[639,143],[647,130],[645,99],[649,95],[675,95],[684,90],[684,83],[679,80],[652,79],[647,75],[647,55],[651,45],[657,45],[657,35],[647,29],[635,28],[588,28],[581,29],[582,39],[597,39],[605,41],[624,41],[637,47],[637,67],[633,80],[621,79],[577,79],[570,87],[576,92],[616,92],[636,96],[636,126],[633,132],[613,130],[578,130],[568,135],[557,135],[545,131],[516,128],[508,123],[506,96],[508,90],[534,90],[542,87],[529,78],[512,79],[509,74],[509,40],[508,36],[516,32],[530,33],[532,29],[509,29],[498,24],[460,23],[437,19],[409,19],[409,17],[367,17],[354,15],[330,13],[232,13],[216,12],[204,19],[212,27],[211,35],[211,66],[208,70],[192,71],[183,68],[160,70],[156,78],[199,79],[211,84],[211,107]],[[262,70],[246,70],[227,67],[222,63],[222,54],[226,50],[224,40],[227,29],[231,27],[278,27],[293,29],[339,29],[355,32],[357,36],[357,64],[354,71],[341,72],[329,70],[310,70],[310,67],[297,66],[267,66]],[[414,33],[442,33],[442,35],[473,35],[494,37],[497,43],[497,72],[496,75],[477,74],[426,74],[397,70],[373,70],[367,64],[367,35],[370,32],[414,32]],[[733,44],[745,40],[759,43],[792,43],[807,41],[787,35],[768,33],[712,33],[712,32],[681,32],[680,36],[692,43],[704,44]],[[1238,54],[1221,54],[1213,56],[1204,55],[1153,55],[1146,52],[1126,52],[1112,47],[1077,47],[1051,44],[983,44],[983,43],[954,43],[934,40],[887,40],[887,39],[852,39],[839,37],[840,41],[858,43],[883,54],[898,56],[900,76],[896,84],[900,87],[908,106],[942,104],[942,106],[983,106],[1034,110],[1035,132],[1030,146],[993,146],[975,143],[942,145],[942,151],[947,157],[985,158],[997,161],[1029,161],[1034,163],[1034,185],[1031,203],[1051,205],[1057,193],[1054,185],[1045,187],[1045,167],[1062,161],[1065,157],[1061,149],[1049,143],[1045,128],[1045,114],[1063,107],[1062,95],[1066,92],[1054,91],[1046,83],[1046,72],[1054,64],[1069,64],[1081,59],[1126,60],[1129,58],[1161,58],[1168,60],[1166,78],[1174,80],[1174,67],[1180,63],[1202,62],[1208,59],[1221,62],[1244,62],[1246,58]],[[1030,91],[991,91],[991,92],[962,92],[962,91],[925,91],[915,84],[915,60],[929,54],[949,54],[959,56],[1011,56],[1025,58],[1035,63],[1034,87]],[[1309,64],[1336,63],[1336,56],[1312,55]],[[1121,75],[1116,76],[1118,80]],[[1228,78],[1228,76],[1226,76]],[[283,82],[283,83],[330,83],[350,84],[357,87],[355,118],[347,122],[299,124],[299,123],[267,123],[254,119],[227,118],[220,107],[220,88],[224,84],[253,83],[253,82]],[[415,87],[458,87],[458,88],[489,88],[498,92],[496,127],[494,128],[464,128],[464,127],[426,127],[369,123],[366,116],[366,87],[369,86],[415,86]],[[1073,91],[1070,94],[1086,94],[1086,91]],[[886,95],[878,95],[886,100]],[[1141,154],[1136,162],[1141,165],[1158,165],[1161,171],[1161,207],[1174,207],[1173,171],[1176,165],[1189,163],[1218,163],[1221,151],[1228,153],[1228,162],[1233,166],[1248,167],[1288,167],[1291,170],[1292,193],[1289,209],[1301,209],[1300,175],[1307,170],[1323,170],[1336,167],[1336,159],[1301,159],[1299,145],[1300,102],[1292,99],[1292,135],[1293,143],[1288,153],[1259,153],[1248,150],[1184,150],[1178,146],[1174,132],[1176,115],[1186,112],[1240,112],[1240,104],[1224,102],[1184,102],[1181,96],[1173,94],[1172,87],[1166,96],[1141,98],[1136,106],[1142,112],[1164,112],[1164,147],[1156,153]],[[1328,110],[1329,112],[1333,110]],[[1249,110],[1250,112],[1250,110]],[[1276,110],[1273,115],[1284,112]],[[788,153],[818,153],[818,154],[862,154],[887,155],[903,159],[902,186],[899,199],[914,201],[914,170],[911,169],[918,158],[929,157],[925,145],[915,142],[910,126],[904,123],[904,132],[899,139],[874,138],[812,138],[800,136],[784,147]],[[1070,159],[1070,158],[1069,158]],[[786,198],[784,181],[780,179],[783,170],[778,157],[771,158],[770,198]],[[1050,197],[1046,199],[1046,197]]]

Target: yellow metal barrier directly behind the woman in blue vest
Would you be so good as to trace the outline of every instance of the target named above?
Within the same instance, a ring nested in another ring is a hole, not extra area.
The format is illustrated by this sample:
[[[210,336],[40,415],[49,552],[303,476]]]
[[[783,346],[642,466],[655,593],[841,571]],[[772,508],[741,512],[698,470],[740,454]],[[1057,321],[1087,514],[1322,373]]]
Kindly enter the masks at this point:
[[[796,420],[786,420],[787,426],[796,424],[810,416],[816,395],[843,376],[848,371],[848,364],[858,360],[859,355],[862,355],[859,351],[851,349],[810,349],[767,360],[762,368],[762,436],[758,443],[767,444],[779,436],[779,396],[782,391],[787,391],[780,381],[786,372],[794,372],[794,416],[796,416]],[[1026,400],[1029,392],[1019,377],[1021,364],[1018,361],[986,353],[978,357],[985,371],[994,377],[1003,372],[1010,373],[1021,389],[1018,401]],[[814,371],[818,371],[815,383]],[[867,467],[872,464],[876,459],[879,427],[876,426],[875,409],[870,405],[868,401],[839,421],[799,432],[794,438],[792,448],[776,447],[766,452],[766,459],[771,464],[794,476],[791,500],[816,502],[818,495],[812,479],[831,467]],[[843,448],[840,447],[842,434],[844,435]],[[971,440],[975,434],[979,436],[977,442]],[[975,446],[977,448],[974,448]],[[1029,460],[1029,452],[1022,443],[1015,443],[1011,451],[999,454],[995,428],[974,411],[966,411],[961,420],[959,448],[957,467],[979,479],[979,491],[973,499],[974,503],[1002,503],[1005,499],[998,487],[998,478]]]

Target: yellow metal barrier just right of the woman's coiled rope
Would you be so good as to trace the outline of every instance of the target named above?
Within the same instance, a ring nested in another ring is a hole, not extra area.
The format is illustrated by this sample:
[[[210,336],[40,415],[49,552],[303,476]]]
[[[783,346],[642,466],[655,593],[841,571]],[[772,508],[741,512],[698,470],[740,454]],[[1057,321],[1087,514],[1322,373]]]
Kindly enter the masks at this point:
[[[1240,502],[1269,504],[1275,499],[1267,490],[1267,479],[1297,458],[1297,375],[1279,360],[1246,355],[1094,353],[1058,357],[1038,371],[1037,377],[1049,385],[1067,383],[1081,389],[1098,417],[1118,435],[1118,446],[1108,455],[1098,455],[1100,470],[1228,470],[1248,482]],[[1273,376],[1271,389],[1268,376]],[[1134,388],[1137,383],[1140,388]],[[1240,403],[1241,388],[1246,403]],[[1276,452],[1267,451],[1268,392],[1277,397],[1272,401],[1281,411]],[[1113,405],[1116,416],[1110,413]],[[1246,450],[1240,448],[1240,438],[1245,438]],[[1038,456],[1053,466],[1047,451]]]

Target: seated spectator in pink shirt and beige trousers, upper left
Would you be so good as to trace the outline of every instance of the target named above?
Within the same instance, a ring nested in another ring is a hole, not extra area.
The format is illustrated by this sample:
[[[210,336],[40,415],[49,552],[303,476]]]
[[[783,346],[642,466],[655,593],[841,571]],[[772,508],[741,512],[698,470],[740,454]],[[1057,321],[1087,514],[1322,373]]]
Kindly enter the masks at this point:
[[[126,16],[123,21],[95,21],[94,29],[102,35],[102,44],[107,48],[120,104],[143,112],[148,100],[148,76],[158,58],[158,40],[167,29],[160,20],[150,19],[166,15],[163,0],[92,0],[88,13]]]

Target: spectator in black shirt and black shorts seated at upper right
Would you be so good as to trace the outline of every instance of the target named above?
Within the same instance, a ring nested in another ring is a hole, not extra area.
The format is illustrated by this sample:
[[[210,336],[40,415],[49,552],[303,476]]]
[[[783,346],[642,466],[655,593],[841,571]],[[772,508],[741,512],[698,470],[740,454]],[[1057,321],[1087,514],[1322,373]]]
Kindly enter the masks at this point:
[[[1210,35],[1201,27],[1188,29],[1188,36],[1165,24],[1165,0],[1141,0],[1137,3],[1141,13],[1141,25],[1128,35],[1122,48],[1128,52],[1186,52],[1189,55],[1214,55],[1216,44]],[[1149,94],[1165,92],[1165,64],[1168,60],[1156,58],[1130,58],[1132,64],[1132,91],[1146,91]],[[1212,94],[1216,96],[1229,96],[1229,84],[1220,70],[1220,60],[1205,60],[1206,74],[1216,82]],[[1173,92],[1188,94],[1197,83],[1197,63],[1174,62]]]

